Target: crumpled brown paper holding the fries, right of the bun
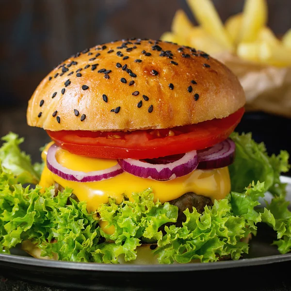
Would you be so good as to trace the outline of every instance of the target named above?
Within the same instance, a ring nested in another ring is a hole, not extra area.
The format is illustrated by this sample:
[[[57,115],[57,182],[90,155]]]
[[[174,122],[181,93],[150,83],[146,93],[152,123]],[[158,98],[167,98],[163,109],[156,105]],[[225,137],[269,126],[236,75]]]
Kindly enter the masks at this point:
[[[251,63],[230,53],[212,56],[238,76],[245,91],[247,111],[291,117],[291,67]]]

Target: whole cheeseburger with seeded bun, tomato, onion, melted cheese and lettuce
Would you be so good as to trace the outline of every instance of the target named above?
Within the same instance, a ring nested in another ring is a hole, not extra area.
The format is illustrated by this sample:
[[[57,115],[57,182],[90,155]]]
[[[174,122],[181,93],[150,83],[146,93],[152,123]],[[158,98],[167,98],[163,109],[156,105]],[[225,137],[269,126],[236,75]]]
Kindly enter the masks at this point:
[[[260,170],[231,192],[229,168],[236,177],[251,156],[243,144],[258,146],[233,133],[244,104],[237,77],[194,48],[132,38],[69,57],[29,100],[28,125],[51,142],[28,206],[39,221],[17,242],[73,261],[239,259],[257,222],[275,227],[254,210],[273,185],[252,183]]]

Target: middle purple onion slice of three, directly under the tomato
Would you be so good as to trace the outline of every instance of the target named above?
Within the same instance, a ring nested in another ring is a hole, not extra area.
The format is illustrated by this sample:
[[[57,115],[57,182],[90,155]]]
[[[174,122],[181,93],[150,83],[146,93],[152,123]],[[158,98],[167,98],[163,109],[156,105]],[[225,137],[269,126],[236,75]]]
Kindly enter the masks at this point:
[[[198,158],[193,150],[181,159],[167,164],[151,164],[132,159],[118,160],[118,163],[125,172],[134,176],[165,181],[191,173],[198,165]]]

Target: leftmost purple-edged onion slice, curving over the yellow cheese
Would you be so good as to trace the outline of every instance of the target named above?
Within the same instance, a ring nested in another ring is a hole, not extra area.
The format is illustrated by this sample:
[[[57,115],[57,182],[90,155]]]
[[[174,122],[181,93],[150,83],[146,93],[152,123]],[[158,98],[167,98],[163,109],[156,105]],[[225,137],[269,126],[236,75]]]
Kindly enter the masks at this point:
[[[56,152],[59,148],[60,147],[55,144],[49,147],[48,155],[47,155],[47,167],[49,171],[51,171],[53,174],[56,174],[65,180],[77,181],[77,182],[97,182],[97,181],[113,178],[123,173],[123,170],[121,169],[118,163],[115,166],[108,169],[87,172],[87,173],[70,170],[62,166],[57,161]]]

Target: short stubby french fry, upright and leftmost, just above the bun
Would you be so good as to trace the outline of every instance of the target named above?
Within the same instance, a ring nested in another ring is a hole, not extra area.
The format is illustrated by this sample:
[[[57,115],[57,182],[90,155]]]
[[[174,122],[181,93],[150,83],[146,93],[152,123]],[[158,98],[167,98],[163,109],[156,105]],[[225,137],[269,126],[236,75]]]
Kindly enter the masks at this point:
[[[181,39],[186,39],[192,27],[193,24],[187,17],[186,13],[182,9],[177,10],[172,21],[172,32],[178,35]]]

